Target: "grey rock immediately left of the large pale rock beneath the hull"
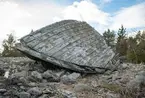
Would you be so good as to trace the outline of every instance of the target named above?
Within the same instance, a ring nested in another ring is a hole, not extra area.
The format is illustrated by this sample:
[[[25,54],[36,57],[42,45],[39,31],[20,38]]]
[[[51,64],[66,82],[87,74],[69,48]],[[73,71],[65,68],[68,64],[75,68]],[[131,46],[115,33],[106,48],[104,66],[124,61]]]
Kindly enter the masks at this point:
[[[50,81],[50,82],[55,82],[55,81],[59,81],[59,77],[53,73],[51,70],[47,70],[45,71],[43,74],[42,74],[42,77],[44,79],[47,79],[47,81]]]

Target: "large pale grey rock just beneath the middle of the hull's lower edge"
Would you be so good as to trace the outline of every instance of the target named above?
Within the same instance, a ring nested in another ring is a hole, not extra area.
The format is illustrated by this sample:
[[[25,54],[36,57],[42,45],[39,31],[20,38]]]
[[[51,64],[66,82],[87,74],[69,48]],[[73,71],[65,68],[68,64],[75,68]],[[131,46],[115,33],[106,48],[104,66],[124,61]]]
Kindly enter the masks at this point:
[[[73,84],[76,82],[76,80],[80,77],[80,73],[72,73],[70,75],[64,75],[61,77],[61,81],[64,84]]]

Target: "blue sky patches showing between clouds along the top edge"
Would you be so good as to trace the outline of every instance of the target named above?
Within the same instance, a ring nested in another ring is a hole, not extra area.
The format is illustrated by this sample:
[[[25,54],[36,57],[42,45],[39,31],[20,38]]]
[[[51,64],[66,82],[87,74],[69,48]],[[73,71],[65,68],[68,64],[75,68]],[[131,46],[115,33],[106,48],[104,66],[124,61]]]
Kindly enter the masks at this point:
[[[72,4],[74,1],[81,1],[81,0],[53,0],[58,4],[62,4],[62,5],[70,5]],[[103,0],[91,0],[93,3],[95,3],[96,5],[101,5],[103,4]],[[109,13],[113,13],[115,11],[120,10],[121,8],[124,7],[129,7],[132,5],[136,5],[142,2],[145,2],[145,0],[105,0],[105,4],[103,4],[103,7],[101,8],[102,10],[109,12]]]

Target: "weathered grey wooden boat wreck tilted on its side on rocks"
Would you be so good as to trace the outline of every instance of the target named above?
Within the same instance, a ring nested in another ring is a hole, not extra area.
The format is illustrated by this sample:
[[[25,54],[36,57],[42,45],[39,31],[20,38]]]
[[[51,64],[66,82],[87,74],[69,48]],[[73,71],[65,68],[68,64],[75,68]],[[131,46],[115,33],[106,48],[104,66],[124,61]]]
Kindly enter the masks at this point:
[[[81,73],[117,67],[115,53],[86,22],[63,20],[22,37],[16,48],[34,60]]]

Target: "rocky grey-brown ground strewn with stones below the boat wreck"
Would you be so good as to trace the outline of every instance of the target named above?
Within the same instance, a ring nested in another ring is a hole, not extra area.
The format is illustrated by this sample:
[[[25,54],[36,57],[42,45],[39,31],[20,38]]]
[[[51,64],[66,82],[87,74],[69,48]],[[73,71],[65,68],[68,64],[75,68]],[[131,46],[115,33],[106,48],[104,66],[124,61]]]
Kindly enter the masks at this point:
[[[145,98],[145,65],[104,74],[46,69],[28,58],[0,58],[0,98]]]

